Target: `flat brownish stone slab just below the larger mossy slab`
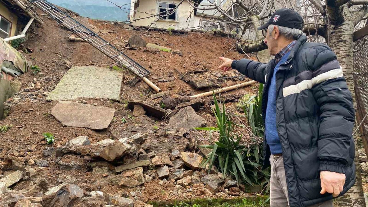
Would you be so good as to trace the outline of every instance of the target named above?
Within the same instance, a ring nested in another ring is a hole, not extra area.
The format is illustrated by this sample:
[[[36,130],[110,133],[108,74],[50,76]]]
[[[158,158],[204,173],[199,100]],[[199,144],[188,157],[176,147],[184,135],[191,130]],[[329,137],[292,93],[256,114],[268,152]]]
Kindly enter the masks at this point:
[[[51,109],[51,114],[63,126],[106,129],[114,117],[115,109],[92,106],[84,103],[60,101]]]

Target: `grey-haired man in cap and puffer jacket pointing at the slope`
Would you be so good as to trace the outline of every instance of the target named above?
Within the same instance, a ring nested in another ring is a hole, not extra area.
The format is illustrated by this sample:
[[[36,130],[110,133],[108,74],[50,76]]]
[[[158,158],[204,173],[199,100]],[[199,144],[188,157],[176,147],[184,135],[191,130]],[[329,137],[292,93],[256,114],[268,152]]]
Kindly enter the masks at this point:
[[[353,100],[335,53],[306,42],[303,23],[284,8],[258,28],[275,55],[268,64],[220,57],[219,69],[265,84],[263,169],[271,165],[271,207],[332,207],[355,182]]]

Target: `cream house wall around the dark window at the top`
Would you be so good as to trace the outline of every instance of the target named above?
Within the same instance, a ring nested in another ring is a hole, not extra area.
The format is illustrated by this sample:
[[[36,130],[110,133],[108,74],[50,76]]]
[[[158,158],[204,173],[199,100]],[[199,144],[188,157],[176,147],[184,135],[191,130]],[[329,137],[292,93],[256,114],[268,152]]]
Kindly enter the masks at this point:
[[[141,20],[135,20],[139,18],[149,17],[152,14],[158,14],[157,2],[167,2],[167,3],[179,3],[180,0],[139,0],[139,6],[135,12],[134,18],[131,18],[132,24],[135,26],[149,26],[157,20],[157,17],[150,17]],[[210,17],[204,17],[194,15],[193,6],[191,6],[188,1],[181,3],[177,9],[178,21],[168,21],[168,20],[158,20],[151,27],[157,28],[174,28],[174,29],[197,29],[201,25],[202,20],[210,20]]]

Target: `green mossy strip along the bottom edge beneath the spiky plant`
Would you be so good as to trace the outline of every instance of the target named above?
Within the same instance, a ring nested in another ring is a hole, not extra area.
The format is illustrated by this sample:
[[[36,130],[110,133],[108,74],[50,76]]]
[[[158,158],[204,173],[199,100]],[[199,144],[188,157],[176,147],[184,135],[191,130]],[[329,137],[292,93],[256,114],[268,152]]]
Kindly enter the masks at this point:
[[[152,201],[148,202],[153,207],[193,207],[195,204],[201,207],[269,207],[269,202],[263,205],[267,196],[237,197],[234,199],[193,199],[175,201]]]

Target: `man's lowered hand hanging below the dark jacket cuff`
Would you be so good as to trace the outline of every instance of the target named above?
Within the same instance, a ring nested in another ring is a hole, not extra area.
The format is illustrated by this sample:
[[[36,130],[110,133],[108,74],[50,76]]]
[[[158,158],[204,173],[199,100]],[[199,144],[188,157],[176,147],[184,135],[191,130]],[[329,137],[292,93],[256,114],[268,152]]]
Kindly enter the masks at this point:
[[[321,194],[332,193],[333,197],[339,196],[340,192],[343,191],[345,183],[345,174],[321,171]]]

